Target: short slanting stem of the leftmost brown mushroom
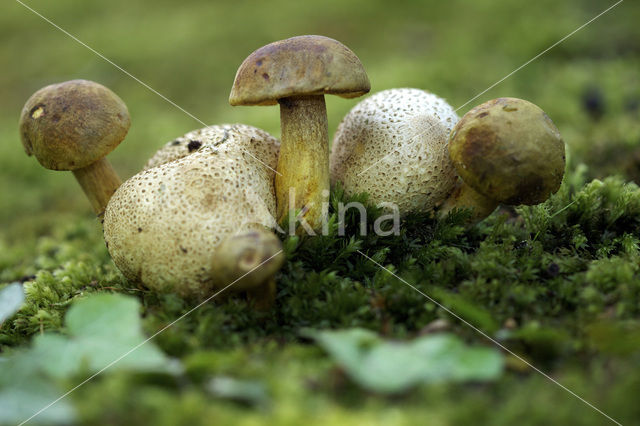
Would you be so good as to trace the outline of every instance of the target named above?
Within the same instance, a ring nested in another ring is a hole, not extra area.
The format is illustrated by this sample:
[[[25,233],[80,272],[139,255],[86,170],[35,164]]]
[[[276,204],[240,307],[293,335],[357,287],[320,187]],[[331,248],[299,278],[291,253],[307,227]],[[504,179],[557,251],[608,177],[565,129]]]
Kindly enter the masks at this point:
[[[101,158],[87,167],[73,170],[73,175],[89,199],[93,211],[102,218],[107,203],[122,183],[111,163],[106,158]]]

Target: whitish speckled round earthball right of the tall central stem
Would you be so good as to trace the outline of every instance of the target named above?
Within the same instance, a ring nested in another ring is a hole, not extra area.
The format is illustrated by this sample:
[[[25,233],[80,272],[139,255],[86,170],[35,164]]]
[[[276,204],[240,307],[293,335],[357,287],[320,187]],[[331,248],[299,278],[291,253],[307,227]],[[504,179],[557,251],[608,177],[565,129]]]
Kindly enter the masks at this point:
[[[389,89],[358,103],[333,139],[331,181],[345,193],[369,194],[399,213],[431,211],[456,175],[447,152],[458,121],[442,98],[419,89]]]

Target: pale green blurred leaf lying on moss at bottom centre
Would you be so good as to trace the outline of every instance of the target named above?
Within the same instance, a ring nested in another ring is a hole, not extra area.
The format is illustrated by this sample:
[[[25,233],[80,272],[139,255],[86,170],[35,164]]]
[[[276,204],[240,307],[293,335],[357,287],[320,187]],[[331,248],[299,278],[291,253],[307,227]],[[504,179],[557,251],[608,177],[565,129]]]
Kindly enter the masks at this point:
[[[453,334],[387,342],[363,329],[303,332],[329,353],[351,379],[379,393],[398,393],[421,383],[487,381],[503,370],[493,348],[469,347]]]

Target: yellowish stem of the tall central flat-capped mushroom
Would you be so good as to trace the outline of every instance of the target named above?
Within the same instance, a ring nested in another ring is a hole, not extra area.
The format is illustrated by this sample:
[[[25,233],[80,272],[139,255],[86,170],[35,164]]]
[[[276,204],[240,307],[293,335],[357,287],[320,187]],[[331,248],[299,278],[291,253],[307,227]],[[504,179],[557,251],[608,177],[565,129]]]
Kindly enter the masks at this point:
[[[292,96],[278,102],[281,123],[279,174],[275,180],[278,221],[293,213],[291,210],[300,209],[309,226],[319,230],[322,203],[329,193],[329,131],[324,95]],[[289,204],[290,188],[294,189],[294,205]]]

